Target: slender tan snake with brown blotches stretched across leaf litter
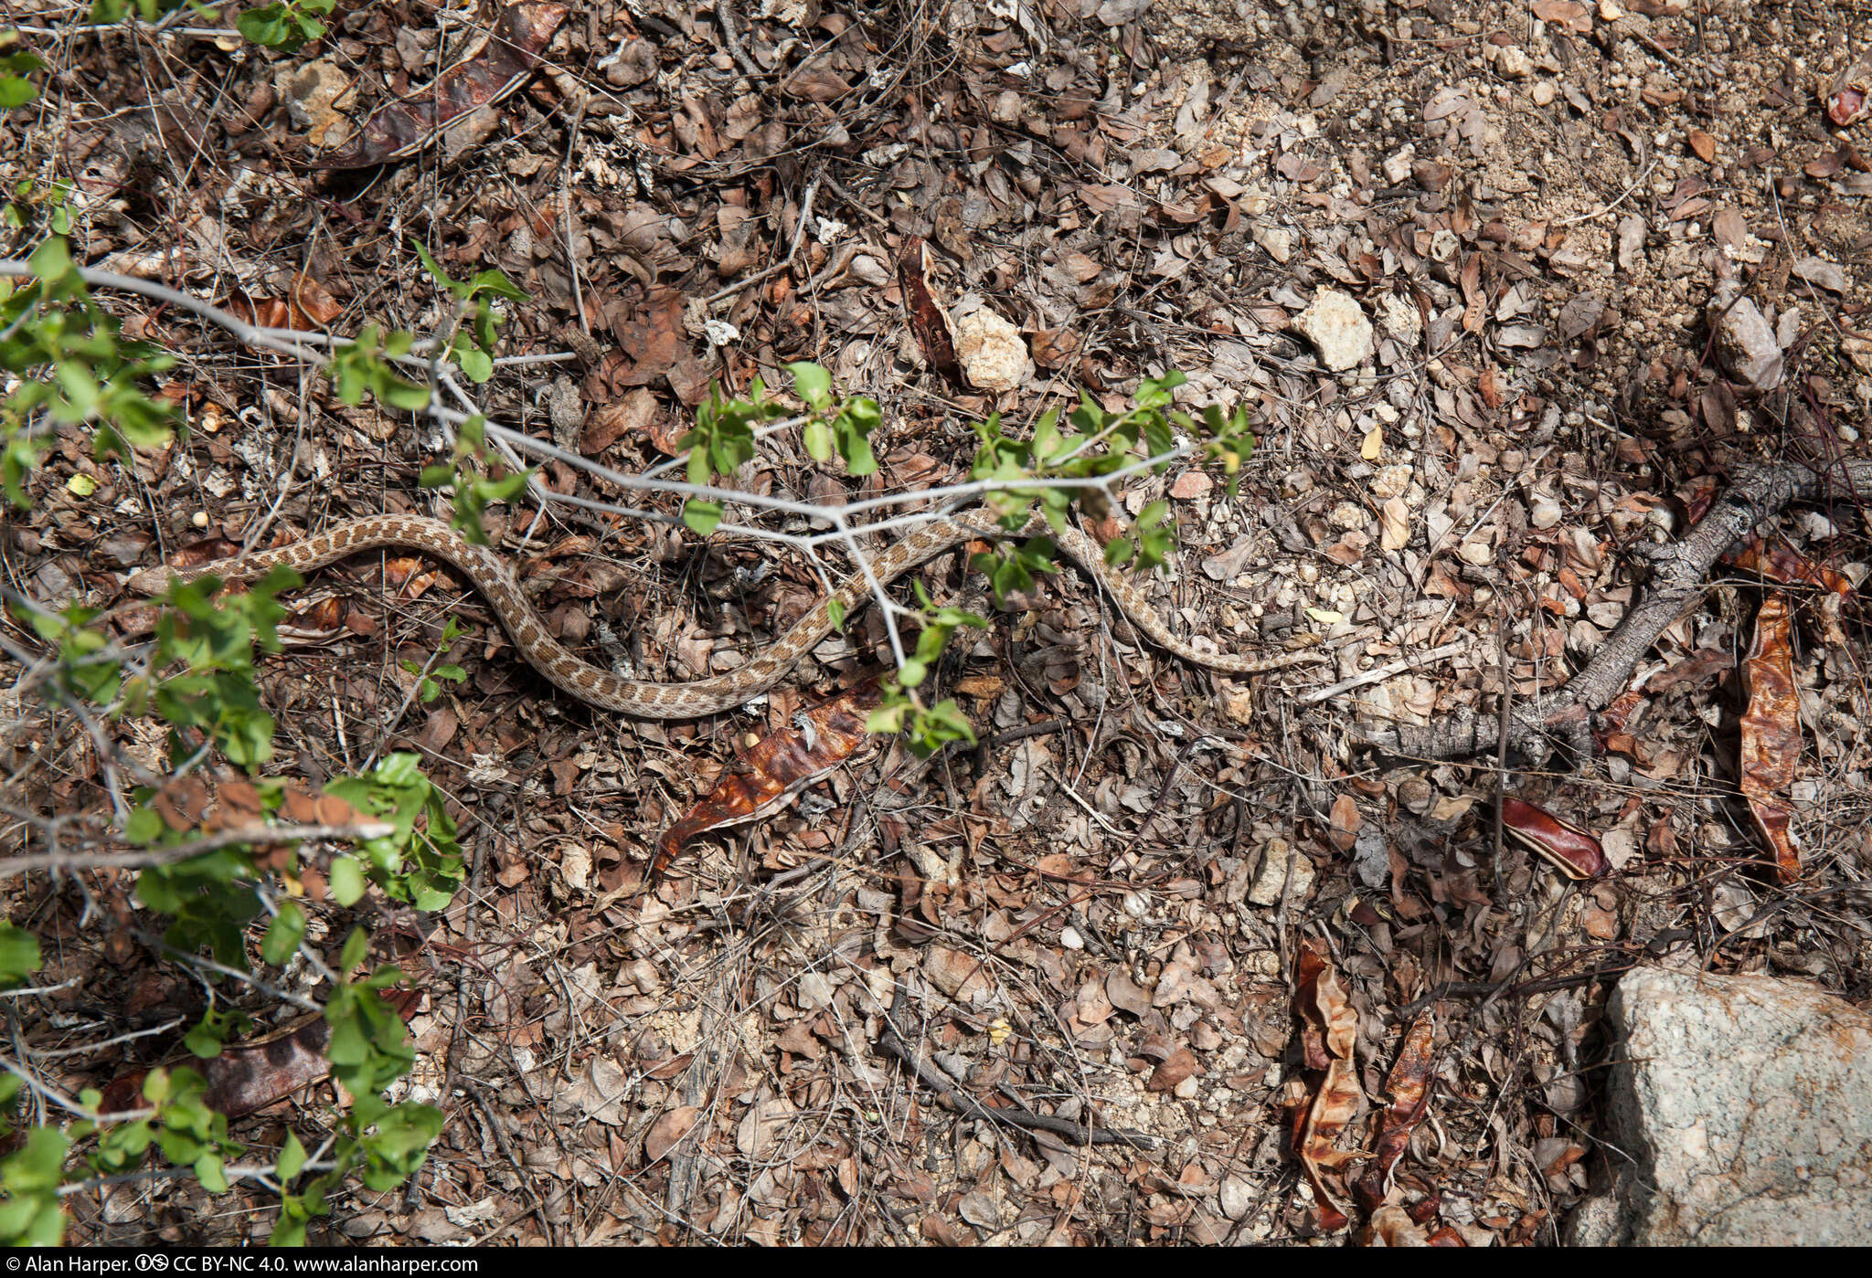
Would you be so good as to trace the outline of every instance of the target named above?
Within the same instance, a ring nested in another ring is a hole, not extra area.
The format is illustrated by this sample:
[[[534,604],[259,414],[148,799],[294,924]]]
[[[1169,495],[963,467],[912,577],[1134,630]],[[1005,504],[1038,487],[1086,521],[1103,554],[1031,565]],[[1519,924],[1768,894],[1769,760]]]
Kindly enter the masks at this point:
[[[1170,627],[1164,625],[1133,582],[1106,565],[1104,550],[1097,541],[1076,528],[1048,528],[1041,516],[1035,516],[1013,533],[987,507],[936,516],[927,524],[912,528],[876,554],[870,561],[870,576],[882,588],[925,559],[968,541],[1039,533],[1052,537],[1054,545],[1069,559],[1104,588],[1118,603],[1119,612],[1138,631],[1164,651],[1187,662],[1224,674],[1252,675],[1324,659],[1322,653],[1309,649],[1275,657],[1237,657],[1191,647],[1170,632]],[[139,595],[159,595],[170,584],[193,582],[202,576],[215,576],[225,586],[241,586],[264,576],[273,567],[311,573],[354,554],[386,548],[419,550],[459,569],[494,606],[494,616],[526,664],[569,696],[599,709],[620,711],[631,719],[702,719],[745,705],[784,679],[799,664],[801,657],[839,629],[835,617],[856,612],[872,597],[872,586],[865,574],[852,574],[747,664],[709,679],[651,683],[625,679],[577,657],[547,631],[547,623],[526,599],[513,569],[500,554],[487,546],[477,546],[444,520],[423,515],[369,515],[352,518],[273,550],[249,552],[232,559],[213,559],[187,569],[142,569],[125,586]]]

